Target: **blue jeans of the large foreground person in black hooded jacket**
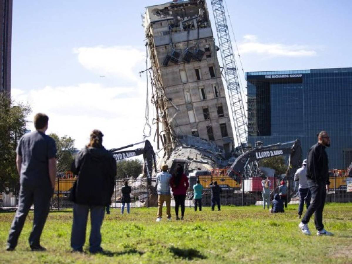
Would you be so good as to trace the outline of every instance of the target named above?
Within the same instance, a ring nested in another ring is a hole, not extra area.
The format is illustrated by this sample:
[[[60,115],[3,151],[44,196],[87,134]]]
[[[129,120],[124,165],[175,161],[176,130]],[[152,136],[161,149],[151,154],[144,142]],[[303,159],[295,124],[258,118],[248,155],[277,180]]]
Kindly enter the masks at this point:
[[[82,251],[86,240],[86,227],[88,212],[90,210],[90,236],[89,251],[92,253],[101,252],[100,228],[103,223],[105,206],[73,205],[73,224],[71,232],[71,247],[74,250]]]

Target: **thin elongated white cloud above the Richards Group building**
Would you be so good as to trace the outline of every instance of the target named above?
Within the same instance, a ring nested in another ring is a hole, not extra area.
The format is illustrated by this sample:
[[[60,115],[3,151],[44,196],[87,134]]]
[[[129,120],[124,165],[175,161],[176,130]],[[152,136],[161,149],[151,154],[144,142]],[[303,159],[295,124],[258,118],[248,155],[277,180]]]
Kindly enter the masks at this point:
[[[239,45],[239,51],[243,53],[257,53],[270,56],[285,57],[311,57],[316,56],[316,51],[309,50],[301,45],[283,45],[280,43],[260,43],[255,35],[245,35],[244,42]]]

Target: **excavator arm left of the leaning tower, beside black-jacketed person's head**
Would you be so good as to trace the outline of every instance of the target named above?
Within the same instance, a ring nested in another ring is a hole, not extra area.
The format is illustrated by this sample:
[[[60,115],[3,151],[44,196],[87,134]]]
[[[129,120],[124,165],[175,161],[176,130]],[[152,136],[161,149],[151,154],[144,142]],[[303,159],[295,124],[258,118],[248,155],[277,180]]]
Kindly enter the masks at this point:
[[[120,151],[125,148],[133,147],[134,145],[137,145],[140,143],[145,143],[144,148]],[[154,149],[150,144],[149,140],[138,142],[136,144],[130,144],[128,146],[124,146],[121,148],[110,149],[109,151],[112,153],[116,161],[124,160],[134,156],[143,155],[143,161],[144,161],[143,174],[147,178],[148,186],[151,185],[153,165],[156,172],[156,158],[155,158]]]

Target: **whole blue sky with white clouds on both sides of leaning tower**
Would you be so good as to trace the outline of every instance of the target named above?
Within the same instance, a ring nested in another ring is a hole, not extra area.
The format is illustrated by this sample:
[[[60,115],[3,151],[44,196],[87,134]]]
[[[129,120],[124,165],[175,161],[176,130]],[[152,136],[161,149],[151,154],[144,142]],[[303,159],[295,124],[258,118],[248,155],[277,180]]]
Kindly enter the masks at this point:
[[[47,113],[48,132],[73,137],[77,148],[92,129],[103,131],[107,148],[140,141],[146,94],[145,76],[138,75],[145,69],[140,14],[162,3],[14,1],[13,98],[32,105],[29,119]],[[226,4],[245,71],[352,66],[351,1]]]

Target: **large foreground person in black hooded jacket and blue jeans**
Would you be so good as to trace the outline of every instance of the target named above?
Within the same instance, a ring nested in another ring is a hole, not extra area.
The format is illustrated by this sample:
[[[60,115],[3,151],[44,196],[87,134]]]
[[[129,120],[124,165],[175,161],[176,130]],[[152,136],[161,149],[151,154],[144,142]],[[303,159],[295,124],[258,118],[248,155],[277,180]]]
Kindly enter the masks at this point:
[[[103,134],[93,130],[89,144],[80,150],[71,166],[77,175],[70,200],[73,206],[71,247],[82,252],[86,239],[88,212],[90,211],[91,231],[89,252],[102,252],[100,228],[103,223],[105,207],[111,204],[111,197],[117,173],[116,161],[103,146]]]

